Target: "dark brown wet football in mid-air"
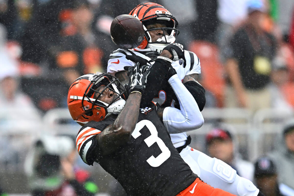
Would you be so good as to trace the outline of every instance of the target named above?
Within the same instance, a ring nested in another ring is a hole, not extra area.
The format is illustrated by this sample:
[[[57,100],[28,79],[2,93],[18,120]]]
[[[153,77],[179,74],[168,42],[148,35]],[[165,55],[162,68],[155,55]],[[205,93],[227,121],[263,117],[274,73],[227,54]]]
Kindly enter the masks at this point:
[[[144,38],[142,23],[135,16],[122,14],[113,19],[110,26],[112,41],[126,49],[136,48]]]

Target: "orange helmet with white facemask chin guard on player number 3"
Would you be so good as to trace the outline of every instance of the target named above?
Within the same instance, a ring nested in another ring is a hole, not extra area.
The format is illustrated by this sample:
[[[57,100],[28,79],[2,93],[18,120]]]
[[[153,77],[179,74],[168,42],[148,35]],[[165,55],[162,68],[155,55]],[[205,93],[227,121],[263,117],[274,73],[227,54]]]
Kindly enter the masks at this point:
[[[104,86],[103,90],[96,89]],[[109,88],[117,94],[111,103],[105,103],[99,98]],[[126,103],[126,89],[120,81],[106,73],[89,73],[77,78],[69,88],[67,106],[71,117],[80,125],[91,120],[101,121],[110,114],[118,114]]]

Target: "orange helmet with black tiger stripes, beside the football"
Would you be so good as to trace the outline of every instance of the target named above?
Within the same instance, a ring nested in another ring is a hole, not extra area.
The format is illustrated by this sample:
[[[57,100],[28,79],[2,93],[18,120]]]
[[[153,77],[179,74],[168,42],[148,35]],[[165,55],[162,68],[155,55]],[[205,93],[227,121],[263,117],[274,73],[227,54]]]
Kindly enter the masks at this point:
[[[162,5],[156,3],[143,3],[136,6],[129,15],[135,16],[138,18],[145,30],[145,36],[142,43],[135,48],[135,50],[142,51],[145,48],[150,48],[152,51],[158,51],[161,53],[161,50],[170,43],[174,43],[179,34],[178,31],[178,21],[173,15]],[[147,24],[152,23],[164,23],[166,28],[155,28],[155,29],[146,29]],[[160,41],[152,42],[149,31],[156,29],[162,29],[163,32],[167,32],[167,35],[164,35]]]

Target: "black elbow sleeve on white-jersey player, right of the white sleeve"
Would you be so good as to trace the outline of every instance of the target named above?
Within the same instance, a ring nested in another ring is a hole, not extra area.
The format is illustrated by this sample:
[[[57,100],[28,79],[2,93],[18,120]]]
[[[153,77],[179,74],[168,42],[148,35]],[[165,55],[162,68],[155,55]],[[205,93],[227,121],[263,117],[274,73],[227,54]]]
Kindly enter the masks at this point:
[[[194,81],[188,81],[184,83],[184,86],[196,100],[199,110],[202,111],[206,103],[204,88]],[[175,101],[175,108],[180,109],[180,104],[178,100]]]

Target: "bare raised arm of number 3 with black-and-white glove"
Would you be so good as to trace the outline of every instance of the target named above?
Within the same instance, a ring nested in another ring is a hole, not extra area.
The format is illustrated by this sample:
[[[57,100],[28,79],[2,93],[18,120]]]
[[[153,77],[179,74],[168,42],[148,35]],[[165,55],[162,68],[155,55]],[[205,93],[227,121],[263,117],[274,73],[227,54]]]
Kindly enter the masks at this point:
[[[146,67],[146,65],[139,67],[139,63],[136,63],[134,67],[129,68],[129,96],[126,104],[114,123],[96,136],[101,155],[112,153],[118,147],[125,144],[128,141],[129,135],[135,129],[139,116],[141,97],[146,87],[147,76],[149,75],[149,70]]]

